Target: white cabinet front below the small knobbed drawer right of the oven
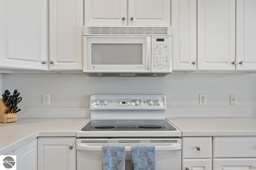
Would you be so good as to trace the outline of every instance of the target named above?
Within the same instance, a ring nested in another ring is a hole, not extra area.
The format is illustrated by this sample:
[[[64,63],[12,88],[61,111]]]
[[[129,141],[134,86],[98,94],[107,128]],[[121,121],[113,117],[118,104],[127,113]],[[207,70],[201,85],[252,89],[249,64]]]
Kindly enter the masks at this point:
[[[211,170],[212,159],[182,159],[182,170]]]

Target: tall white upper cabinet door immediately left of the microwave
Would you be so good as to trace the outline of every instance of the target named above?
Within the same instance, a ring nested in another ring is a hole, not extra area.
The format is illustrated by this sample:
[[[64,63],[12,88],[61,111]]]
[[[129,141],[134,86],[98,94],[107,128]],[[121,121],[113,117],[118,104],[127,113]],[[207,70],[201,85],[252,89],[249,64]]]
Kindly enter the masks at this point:
[[[83,0],[50,0],[50,70],[82,70]]]

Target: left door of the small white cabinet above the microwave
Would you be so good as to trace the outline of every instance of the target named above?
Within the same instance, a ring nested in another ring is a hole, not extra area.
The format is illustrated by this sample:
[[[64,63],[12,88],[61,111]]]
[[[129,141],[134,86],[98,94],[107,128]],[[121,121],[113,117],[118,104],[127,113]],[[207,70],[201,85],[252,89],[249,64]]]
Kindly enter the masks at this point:
[[[84,0],[84,25],[127,25],[127,0]]]

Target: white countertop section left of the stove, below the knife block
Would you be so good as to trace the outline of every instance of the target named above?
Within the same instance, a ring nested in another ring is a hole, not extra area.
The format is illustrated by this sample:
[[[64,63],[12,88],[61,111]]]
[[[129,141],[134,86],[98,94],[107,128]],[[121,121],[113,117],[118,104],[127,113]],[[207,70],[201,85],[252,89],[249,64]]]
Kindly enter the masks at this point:
[[[89,118],[19,118],[0,123],[0,155],[23,146],[36,137],[75,137]]]

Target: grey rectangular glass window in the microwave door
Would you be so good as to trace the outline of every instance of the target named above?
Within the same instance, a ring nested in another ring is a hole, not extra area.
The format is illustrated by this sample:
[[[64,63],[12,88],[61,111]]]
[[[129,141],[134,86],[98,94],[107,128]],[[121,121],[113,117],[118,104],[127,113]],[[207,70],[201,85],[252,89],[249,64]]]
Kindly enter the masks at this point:
[[[142,64],[142,44],[92,43],[92,64]]]

